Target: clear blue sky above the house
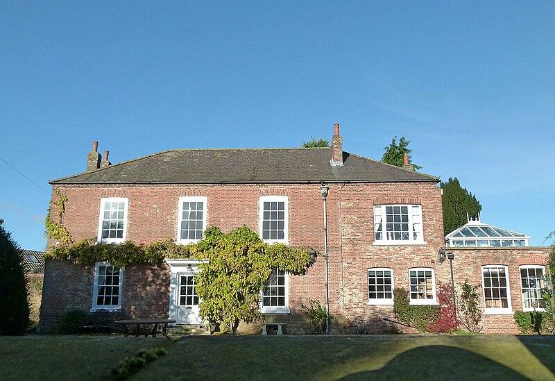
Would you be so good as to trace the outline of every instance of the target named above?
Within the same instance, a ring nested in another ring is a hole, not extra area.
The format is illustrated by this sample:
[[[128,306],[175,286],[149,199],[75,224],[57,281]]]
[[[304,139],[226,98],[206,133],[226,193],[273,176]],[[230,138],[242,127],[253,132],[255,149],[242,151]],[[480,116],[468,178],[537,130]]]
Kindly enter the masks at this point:
[[[173,148],[411,141],[482,221],[555,230],[555,3],[1,1],[0,218],[42,250],[48,181]],[[547,243],[546,243],[547,244]]]

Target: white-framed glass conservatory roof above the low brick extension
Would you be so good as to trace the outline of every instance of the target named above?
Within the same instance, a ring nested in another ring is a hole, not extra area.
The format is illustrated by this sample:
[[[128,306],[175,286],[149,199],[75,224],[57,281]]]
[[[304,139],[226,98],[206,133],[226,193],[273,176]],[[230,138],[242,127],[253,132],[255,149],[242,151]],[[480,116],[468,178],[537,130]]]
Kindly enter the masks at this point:
[[[482,223],[480,217],[468,222],[445,236],[450,247],[509,247],[528,246],[527,235]]]

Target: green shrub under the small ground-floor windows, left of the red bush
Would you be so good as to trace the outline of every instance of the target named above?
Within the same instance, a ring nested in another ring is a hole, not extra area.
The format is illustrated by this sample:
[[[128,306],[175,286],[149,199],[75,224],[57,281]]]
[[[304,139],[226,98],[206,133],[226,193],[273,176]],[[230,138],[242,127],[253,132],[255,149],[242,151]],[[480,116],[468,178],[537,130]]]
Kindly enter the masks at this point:
[[[440,316],[438,305],[411,305],[409,292],[403,287],[393,289],[393,313],[402,323],[420,332],[429,332]]]

